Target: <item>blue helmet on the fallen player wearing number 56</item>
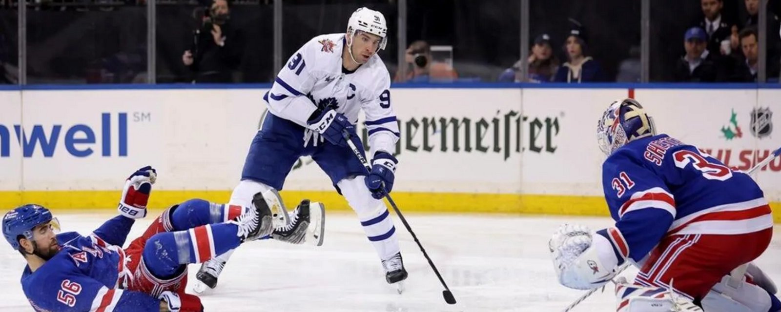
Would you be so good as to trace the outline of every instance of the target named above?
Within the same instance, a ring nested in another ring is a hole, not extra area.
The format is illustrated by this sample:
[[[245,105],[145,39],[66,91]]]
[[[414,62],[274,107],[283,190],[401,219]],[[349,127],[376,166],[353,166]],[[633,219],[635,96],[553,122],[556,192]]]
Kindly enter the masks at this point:
[[[51,224],[55,230],[59,230],[59,222],[52,218],[52,211],[37,204],[26,204],[9,211],[2,218],[2,235],[11,244],[13,249],[19,250],[20,235],[27,239],[33,239],[33,229],[37,225]]]

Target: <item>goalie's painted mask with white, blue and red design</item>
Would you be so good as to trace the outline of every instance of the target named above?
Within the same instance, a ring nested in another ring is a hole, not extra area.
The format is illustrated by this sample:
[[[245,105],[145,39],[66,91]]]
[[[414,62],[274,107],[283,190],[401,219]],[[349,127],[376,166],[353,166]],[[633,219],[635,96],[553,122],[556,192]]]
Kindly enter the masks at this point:
[[[613,101],[597,123],[597,142],[608,156],[632,140],[655,135],[654,120],[631,98]]]

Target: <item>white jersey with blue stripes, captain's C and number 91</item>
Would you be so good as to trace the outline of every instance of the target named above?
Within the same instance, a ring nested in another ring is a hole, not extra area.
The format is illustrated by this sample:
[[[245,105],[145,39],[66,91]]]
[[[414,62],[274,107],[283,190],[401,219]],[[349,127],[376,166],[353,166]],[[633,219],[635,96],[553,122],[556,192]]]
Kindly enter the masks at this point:
[[[335,106],[353,124],[363,110],[369,155],[378,150],[393,153],[399,130],[391,108],[391,76],[376,54],[354,72],[344,73],[341,55],[346,45],[344,34],[323,34],[299,48],[263,97],[269,112],[306,127],[316,108]]]

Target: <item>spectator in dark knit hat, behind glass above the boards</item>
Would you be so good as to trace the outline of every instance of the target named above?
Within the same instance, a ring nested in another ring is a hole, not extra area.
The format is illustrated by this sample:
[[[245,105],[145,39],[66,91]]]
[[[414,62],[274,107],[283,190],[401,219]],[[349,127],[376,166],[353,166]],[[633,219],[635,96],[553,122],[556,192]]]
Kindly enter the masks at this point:
[[[573,21],[574,23],[574,21]],[[560,83],[587,83],[605,81],[601,66],[593,58],[587,56],[587,35],[580,24],[576,24],[569,30],[569,36],[564,49],[568,62],[558,68],[555,82]]]

